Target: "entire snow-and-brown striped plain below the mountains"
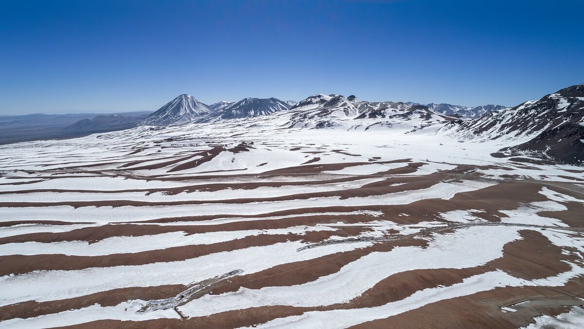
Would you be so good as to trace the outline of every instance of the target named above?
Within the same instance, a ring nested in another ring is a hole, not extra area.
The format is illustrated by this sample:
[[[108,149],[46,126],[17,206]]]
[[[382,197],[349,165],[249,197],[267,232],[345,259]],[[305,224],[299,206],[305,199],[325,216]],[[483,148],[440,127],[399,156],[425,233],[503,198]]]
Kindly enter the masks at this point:
[[[0,327],[578,323],[584,168],[290,115],[0,146]]]

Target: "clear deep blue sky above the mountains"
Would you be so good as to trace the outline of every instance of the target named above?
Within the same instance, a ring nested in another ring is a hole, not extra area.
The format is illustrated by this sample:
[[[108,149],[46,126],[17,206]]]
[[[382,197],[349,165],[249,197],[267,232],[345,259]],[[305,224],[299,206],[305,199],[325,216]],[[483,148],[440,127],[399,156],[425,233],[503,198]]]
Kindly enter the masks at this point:
[[[0,114],[316,93],[512,106],[584,83],[582,0],[1,1]]]

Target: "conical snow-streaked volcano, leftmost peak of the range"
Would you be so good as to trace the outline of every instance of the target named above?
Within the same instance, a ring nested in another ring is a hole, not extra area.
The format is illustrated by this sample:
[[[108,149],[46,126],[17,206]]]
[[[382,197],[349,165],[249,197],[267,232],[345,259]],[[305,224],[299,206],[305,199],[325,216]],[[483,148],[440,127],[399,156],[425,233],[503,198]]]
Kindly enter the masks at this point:
[[[182,94],[168,102],[158,111],[138,122],[138,125],[180,125],[194,121],[213,112],[208,105],[199,102],[191,95]]]

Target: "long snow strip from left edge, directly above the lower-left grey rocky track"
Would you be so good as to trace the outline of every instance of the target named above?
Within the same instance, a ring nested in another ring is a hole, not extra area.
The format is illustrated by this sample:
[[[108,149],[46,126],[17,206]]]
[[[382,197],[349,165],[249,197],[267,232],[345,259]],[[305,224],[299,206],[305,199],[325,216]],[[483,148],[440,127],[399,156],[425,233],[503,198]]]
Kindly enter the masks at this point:
[[[242,269],[246,274],[255,273],[284,263],[305,261],[369,245],[370,242],[357,242],[296,252],[304,246],[303,243],[282,242],[211,253],[186,261],[82,270],[41,270],[23,275],[2,276],[0,306],[26,300],[69,299],[124,287],[187,285],[223,275],[233,269]]]

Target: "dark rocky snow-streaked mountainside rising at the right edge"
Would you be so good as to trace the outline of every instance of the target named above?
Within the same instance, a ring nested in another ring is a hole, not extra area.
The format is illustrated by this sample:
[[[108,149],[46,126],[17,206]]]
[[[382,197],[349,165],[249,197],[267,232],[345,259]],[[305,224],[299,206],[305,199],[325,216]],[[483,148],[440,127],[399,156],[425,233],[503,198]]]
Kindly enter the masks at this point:
[[[584,84],[477,119],[453,122],[442,131],[467,138],[508,140],[516,145],[508,150],[544,152],[562,162],[584,162]]]

